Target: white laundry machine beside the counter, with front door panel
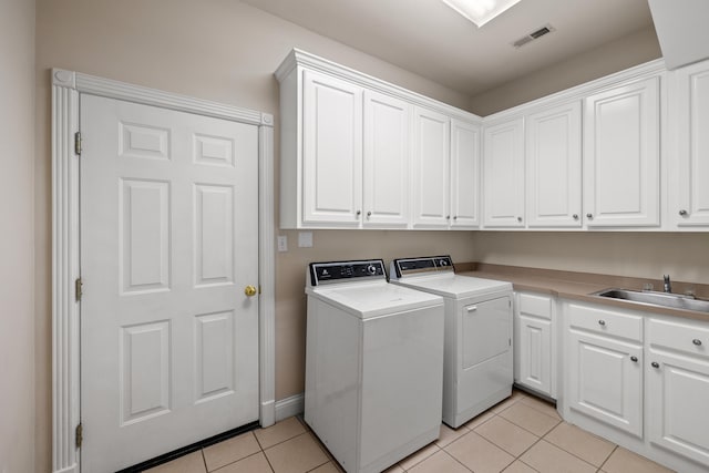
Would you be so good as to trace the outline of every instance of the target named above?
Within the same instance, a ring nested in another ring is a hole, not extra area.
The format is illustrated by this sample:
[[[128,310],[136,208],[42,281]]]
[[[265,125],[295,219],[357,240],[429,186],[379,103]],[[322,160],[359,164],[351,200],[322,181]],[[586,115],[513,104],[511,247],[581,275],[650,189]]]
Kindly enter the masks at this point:
[[[445,300],[443,422],[458,428],[512,394],[512,284],[459,276],[450,256],[394,259],[390,277]]]

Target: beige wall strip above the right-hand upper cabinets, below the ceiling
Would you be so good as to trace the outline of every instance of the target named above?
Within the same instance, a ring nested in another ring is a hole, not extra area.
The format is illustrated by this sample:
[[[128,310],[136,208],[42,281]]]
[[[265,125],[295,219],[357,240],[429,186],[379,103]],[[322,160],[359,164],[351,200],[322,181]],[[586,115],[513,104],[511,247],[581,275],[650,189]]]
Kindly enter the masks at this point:
[[[649,27],[475,95],[469,110],[490,115],[661,55],[655,28]]]

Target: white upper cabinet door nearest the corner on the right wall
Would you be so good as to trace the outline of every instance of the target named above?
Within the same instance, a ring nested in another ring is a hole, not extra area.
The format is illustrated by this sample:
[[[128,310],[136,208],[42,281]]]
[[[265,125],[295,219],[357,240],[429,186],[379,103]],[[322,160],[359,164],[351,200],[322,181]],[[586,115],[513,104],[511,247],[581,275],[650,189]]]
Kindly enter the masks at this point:
[[[524,133],[522,119],[485,128],[483,224],[524,227]]]

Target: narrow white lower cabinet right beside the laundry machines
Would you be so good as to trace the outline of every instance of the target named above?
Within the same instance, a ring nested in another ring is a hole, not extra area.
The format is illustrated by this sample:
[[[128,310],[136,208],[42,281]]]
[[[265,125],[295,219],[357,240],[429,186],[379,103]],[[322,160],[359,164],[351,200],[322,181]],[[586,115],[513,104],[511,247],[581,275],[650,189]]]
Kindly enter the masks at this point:
[[[556,399],[556,337],[554,300],[549,296],[517,292],[514,310],[514,380]]]

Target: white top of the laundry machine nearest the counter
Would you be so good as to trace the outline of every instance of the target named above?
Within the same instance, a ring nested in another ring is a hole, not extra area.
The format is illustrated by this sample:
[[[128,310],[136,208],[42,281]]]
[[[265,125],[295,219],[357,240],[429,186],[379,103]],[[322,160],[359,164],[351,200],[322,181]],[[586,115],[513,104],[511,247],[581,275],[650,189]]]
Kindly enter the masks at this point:
[[[459,276],[453,273],[412,276],[399,279],[397,284],[414,289],[420,288],[422,290],[453,299],[463,299],[490,292],[512,290],[512,282],[474,278],[471,276]]]

